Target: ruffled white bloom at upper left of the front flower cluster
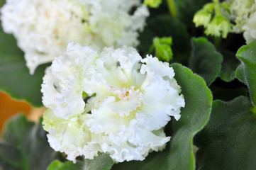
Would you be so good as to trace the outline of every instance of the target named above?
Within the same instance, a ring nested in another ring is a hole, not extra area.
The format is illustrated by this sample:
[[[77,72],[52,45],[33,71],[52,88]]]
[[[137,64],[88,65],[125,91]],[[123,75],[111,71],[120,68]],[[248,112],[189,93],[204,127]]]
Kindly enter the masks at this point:
[[[97,56],[95,50],[71,42],[65,55],[46,69],[41,89],[43,104],[57,117],[67,120],[84,112],[82,81]]]

